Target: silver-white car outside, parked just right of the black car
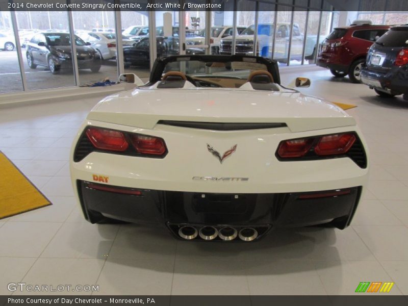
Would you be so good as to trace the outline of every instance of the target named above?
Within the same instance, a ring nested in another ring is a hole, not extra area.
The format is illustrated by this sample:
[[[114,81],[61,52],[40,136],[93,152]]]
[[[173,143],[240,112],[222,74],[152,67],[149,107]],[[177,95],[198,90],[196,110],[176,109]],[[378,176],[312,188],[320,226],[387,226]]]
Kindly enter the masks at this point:
[[[101,60],[116,59],[116,34],[111,32],[89,32],[81,36],[85,42],[89,42],[91,46],[99,53]],[[122,39],[122,45],[132,46],[136,44],[131,39]]]

